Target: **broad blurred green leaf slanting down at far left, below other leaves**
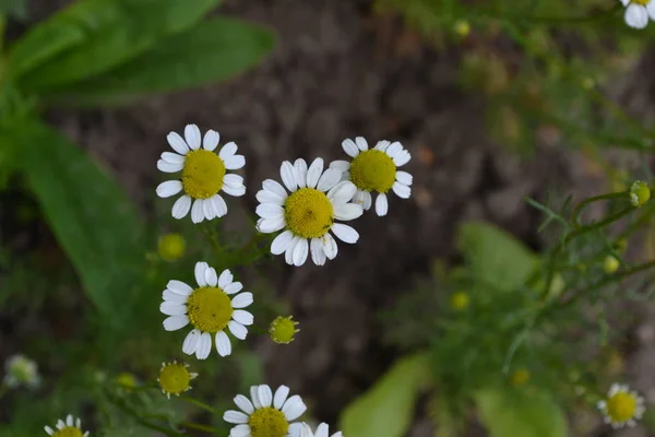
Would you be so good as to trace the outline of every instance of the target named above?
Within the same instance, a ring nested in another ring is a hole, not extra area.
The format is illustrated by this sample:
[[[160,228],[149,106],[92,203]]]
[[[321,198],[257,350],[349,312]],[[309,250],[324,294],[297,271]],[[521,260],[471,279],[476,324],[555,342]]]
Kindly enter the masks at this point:
[[[126,193],[78,145],[38,121],[3,135],[90,299],[109,322],[131,316],[143,275],[143,223]]]

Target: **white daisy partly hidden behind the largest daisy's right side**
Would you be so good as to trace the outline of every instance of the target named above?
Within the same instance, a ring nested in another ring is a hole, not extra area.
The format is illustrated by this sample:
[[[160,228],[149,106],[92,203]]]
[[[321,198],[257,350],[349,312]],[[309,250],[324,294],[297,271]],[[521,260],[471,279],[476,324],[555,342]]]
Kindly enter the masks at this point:
[[[369,150],[368,143],[362,137],[355,141],[347,139],[342,142],[344,152],[353,160],[334,161],[330,168],[343,172],[343,178],[353,181],[357,187],[354,201],[360,203],[365,210],[369,210],[373,202],[371,192],[378,192],[376,198],[376,213],[386,215],[389,200],[386,193],[393,190],[397,197],[408,199],[412,194],[412,175],[398,170],[409,162],[412,155],[395,141],[380,141]]]

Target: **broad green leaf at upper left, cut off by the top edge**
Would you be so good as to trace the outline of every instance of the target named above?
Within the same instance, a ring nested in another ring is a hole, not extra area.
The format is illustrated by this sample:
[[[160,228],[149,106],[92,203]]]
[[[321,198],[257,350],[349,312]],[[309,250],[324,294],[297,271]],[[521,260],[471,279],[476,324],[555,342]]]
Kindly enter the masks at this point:
[[[155,47],[160,39],[191,27],[218,2],[83,0],[71,7],[73,12],[63,10],[47,23],[82,33],[82,40],[27,72],[21,84],[41,91],[100,74]]]

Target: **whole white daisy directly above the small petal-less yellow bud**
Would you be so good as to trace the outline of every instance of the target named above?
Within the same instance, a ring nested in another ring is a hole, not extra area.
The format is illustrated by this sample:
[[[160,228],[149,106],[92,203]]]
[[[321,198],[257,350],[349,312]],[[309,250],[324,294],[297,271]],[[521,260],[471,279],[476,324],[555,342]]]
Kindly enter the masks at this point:
[[[221,276],[206,262],[195,263],[198,288],[181,281],[169,281],[162,294],[159,310],[169,316],[164,329],[177,331],[191,323],[193,329],[182,344],[182,352],[205,359],[212,351],[215,334],[216,351],[221,356],[231,354],[231,344],[225,328],[239,340],[246,340],[247,326],[252,324],[252,314],[241,309],[252,304],[252,293],[239,293],[243,285],[233,282],[233,274],[224,270]],[[239,294],[236,294],[239,293]],[[236,294],[231,299],[229,295]]]

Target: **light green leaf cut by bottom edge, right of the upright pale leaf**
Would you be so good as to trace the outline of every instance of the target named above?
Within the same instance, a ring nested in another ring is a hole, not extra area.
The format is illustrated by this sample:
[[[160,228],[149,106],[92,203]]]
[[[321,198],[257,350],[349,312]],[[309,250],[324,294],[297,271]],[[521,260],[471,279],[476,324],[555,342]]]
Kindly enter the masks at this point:
[[[567,437],[564,414],[544,393],[487,388],[475,401],[491,437]]]

